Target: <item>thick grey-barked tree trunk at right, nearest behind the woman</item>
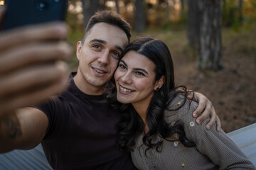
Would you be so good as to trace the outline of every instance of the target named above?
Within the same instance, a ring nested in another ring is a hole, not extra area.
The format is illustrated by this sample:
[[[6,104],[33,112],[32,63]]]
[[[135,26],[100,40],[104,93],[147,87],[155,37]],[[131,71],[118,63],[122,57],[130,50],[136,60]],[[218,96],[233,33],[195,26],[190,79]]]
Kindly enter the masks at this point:
[[[198,0],[200,11],[199,69],[223,69],[221,57],[221,1]]]

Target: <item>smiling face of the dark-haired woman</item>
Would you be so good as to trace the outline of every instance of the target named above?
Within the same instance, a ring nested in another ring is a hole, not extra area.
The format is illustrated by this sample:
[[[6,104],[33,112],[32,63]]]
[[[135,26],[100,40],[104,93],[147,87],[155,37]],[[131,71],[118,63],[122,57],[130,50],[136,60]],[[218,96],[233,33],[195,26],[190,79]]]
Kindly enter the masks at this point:
[[[157,89],[154,69],[154,62],[144,55],[132,50],[127,52],[114,74],[117,100],[132,103],[133,106],[148,107],[154,90]]]

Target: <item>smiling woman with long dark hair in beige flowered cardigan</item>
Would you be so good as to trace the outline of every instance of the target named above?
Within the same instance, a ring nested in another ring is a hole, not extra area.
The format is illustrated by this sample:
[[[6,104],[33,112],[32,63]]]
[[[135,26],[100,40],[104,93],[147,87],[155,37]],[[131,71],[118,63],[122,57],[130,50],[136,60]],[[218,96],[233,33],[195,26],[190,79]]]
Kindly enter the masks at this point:
[[[255,169],[225,132],[195,123],[197,103],[186,98],[185,86],[175,86],[171,54],[161,40],[131,42],[114,79],[110,98],[122,112],[117,142],[138,169]]]

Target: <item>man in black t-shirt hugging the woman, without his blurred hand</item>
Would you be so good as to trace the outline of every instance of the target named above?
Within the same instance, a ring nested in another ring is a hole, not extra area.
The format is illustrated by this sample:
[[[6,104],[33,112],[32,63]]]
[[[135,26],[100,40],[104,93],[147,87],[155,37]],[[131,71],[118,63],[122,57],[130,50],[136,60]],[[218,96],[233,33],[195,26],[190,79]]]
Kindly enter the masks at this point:
[[[117,148],[120,115],[104,94],[130,36],[129,24],[117,14],[92,16],[77,44],[78,72],[70,77],[68,90],[42,106],[6,115],[19,133],[10,137],[9,124],[2,121],[1,152],[31,149],[41,142],[53,169],[135,169],[129,155]],[[204,96],[196,97],[206,102]],[[212,117],[210,125],[216,120]]]

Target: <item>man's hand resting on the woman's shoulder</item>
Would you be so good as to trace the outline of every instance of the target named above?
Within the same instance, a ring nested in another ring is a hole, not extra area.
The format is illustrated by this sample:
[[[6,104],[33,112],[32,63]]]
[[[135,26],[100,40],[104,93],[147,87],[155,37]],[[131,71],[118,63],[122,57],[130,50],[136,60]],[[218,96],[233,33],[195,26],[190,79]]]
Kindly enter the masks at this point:
[[[215,113],[215,109],[213,108],[213,104],[206,98],[206,96],[203,96],[203,94],[200,94],[198,92],[189,93],[187,96],[188,99],[191,99],[193,101],[198,102],[198,108],[196,108],[196,111],[193,112],[193,117],[196,118],[198,115],[201,115],[196,119],[196,123],[200,124],[210,115],[210,122],[206,125],[206,129],[210,129],[213,127],[213,124],[217,124],[217,130],[220,132],[221,124],[220,119],[218,118],[218,115]]]

